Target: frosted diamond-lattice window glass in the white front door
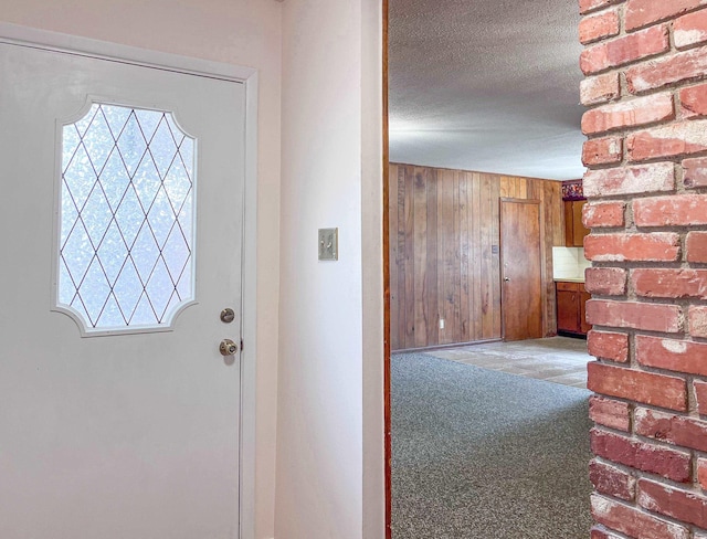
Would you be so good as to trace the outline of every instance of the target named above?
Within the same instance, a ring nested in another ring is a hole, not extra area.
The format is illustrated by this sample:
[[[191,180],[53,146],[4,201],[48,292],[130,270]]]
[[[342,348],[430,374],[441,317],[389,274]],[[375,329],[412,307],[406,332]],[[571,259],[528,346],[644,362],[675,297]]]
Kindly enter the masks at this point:
[[[163,327],[193,299],[194,144],[161,110],[64,126],[57,305],[86,330]]]

